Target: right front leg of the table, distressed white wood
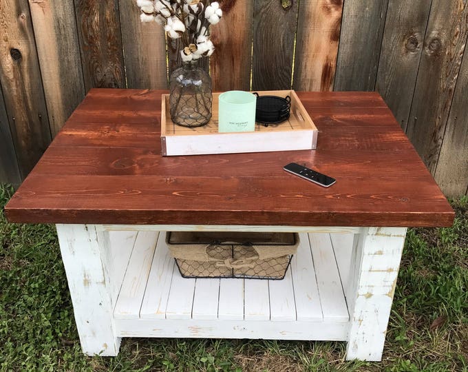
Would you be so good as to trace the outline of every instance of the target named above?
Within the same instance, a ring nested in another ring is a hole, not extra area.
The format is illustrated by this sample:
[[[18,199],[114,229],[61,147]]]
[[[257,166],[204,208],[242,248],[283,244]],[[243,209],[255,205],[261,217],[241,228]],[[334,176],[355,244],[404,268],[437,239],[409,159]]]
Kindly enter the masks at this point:
[[[398,277],[405,227],[363,229],[353,254],[348,309],[350,330],[346,359],[382,358],[388,319]]]

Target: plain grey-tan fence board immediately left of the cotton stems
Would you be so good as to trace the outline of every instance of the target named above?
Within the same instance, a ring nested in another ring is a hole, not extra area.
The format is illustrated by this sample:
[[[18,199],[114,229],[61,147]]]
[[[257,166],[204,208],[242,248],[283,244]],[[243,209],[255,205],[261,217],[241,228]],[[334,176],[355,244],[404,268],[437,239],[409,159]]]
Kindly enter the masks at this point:
[[[127,87],[167,89],[164,28],[140,22],[134,0],[120,0],[119,11]]]

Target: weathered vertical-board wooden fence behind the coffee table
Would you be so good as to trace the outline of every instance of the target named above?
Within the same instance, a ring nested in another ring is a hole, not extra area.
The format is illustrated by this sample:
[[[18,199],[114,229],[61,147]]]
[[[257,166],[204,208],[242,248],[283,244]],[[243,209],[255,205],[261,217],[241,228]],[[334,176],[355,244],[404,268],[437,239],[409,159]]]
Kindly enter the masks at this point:
[[[377,90],[448,196],[468,186],[468,0],[223,0],[215,90]],[[0,0],[0,181],[92,87],[166,88],[177,45],[134,0]],[[166,63],[166,53],[169,63]]]

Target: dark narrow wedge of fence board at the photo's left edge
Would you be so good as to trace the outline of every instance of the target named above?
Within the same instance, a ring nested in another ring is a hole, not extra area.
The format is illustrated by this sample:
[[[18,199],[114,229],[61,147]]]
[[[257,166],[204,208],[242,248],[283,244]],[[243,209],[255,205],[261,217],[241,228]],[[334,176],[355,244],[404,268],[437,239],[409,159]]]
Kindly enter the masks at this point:
[[[19,185],[21,176],[19,174],[17,155],[14,152],[13,138],[10,132],[8,116],[5,110],[5,101],[0,87],[0,182]]]

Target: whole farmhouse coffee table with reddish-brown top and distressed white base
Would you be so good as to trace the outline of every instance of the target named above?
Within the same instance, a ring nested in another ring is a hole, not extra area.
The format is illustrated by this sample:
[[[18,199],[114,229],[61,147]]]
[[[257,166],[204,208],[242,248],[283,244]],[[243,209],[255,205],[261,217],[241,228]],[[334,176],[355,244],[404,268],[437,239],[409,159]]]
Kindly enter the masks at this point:
[[[381,360],[407,227],[454,220],[381,96],[299,93],[315,151],[163,157],[162,93],[91,90],[6,206],[56,224],[83,352],[116,355],[123,337],[343,340],[346,358]],[[184,279],[174,230],[301,244],[284,280]]]

